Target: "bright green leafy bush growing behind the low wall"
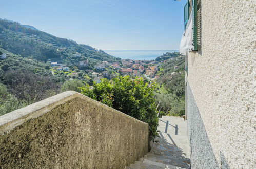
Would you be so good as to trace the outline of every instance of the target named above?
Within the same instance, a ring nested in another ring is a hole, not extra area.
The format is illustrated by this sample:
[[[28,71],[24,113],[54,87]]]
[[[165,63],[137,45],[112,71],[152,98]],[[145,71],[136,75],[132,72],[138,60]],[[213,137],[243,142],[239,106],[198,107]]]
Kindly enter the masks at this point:
[[[110,107],[149,124],[149,138],[157,136],[157,113],[153,98],[155,85],[149,85],[143,78],[118,76],[112,80],[102,79],[81,88],[81,93]]]

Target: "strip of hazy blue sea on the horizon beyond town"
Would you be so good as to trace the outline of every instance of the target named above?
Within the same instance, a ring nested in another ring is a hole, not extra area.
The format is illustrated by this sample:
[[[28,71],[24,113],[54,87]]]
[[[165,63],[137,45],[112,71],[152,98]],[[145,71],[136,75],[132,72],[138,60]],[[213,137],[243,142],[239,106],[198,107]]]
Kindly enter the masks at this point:
[[[179,50],[105,50],[105,52],[121,59],[154,60],[166,52],[179,52]]]

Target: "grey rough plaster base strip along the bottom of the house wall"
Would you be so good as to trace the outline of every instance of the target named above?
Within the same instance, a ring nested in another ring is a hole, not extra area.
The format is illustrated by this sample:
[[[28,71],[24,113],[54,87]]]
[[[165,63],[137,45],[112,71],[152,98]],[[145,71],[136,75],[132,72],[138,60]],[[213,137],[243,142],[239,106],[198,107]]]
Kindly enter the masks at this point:
[[[187,97],[191,168],[219,168],[188,82]]]

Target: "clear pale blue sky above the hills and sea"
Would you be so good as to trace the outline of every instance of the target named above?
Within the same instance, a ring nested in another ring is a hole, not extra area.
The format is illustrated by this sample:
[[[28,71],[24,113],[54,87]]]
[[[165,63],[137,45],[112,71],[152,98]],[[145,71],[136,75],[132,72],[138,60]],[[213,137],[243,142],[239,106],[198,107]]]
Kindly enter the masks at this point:
[[[0,0],[0,17],[102,50],[176,50],[185,0]]]

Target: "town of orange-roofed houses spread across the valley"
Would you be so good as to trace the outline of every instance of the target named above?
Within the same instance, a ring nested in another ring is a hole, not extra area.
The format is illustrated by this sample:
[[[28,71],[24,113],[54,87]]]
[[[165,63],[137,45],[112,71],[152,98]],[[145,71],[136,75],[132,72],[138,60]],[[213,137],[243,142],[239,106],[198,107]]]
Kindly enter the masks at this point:
[[[179,55],[176,52],[174,54]],[[74,56],[81,57],[81,54],[76,52]],[[178,58],[171,57],[158,61],[121,59],[120,62],[101,61],[96,65],[91,64],[88,59],[77,61],[75,64],[64,64],[62,60],[58,61],[55,59],[52,61],[48,59],[47,63],[51,66],[52,74],[65,74],[66,80],[84,80],[87,78],[91,82],[100,83],[103,78],[112,79],[118,75],[141,76],[149,80],[156,80],[159,78],[157,72],[160,70],[160,66],[167,62],[168,59],[175,60]],[[173,68],[178,69],[178,66]],[[175,72],[172,72],[172,74],[174,75]]]

